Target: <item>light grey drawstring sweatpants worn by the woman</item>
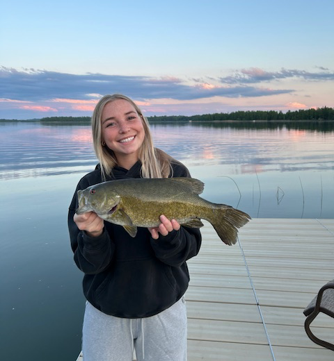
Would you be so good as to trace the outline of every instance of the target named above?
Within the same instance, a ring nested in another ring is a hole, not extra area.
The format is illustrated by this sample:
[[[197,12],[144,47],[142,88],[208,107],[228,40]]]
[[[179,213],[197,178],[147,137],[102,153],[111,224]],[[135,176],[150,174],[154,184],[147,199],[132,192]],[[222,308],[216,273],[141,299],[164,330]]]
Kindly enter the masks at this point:
[[[84,361],[186,361],[184,297],[143,319],[109,316],[86,303],[82,337]]]

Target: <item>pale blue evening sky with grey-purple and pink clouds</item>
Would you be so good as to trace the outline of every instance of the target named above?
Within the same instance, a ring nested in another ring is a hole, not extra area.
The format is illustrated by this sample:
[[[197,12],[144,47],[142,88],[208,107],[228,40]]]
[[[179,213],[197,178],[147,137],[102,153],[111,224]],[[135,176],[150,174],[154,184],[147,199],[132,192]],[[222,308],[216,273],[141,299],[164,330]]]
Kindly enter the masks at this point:
[[[334,107],[333,0],[3,1],[0,119]]]

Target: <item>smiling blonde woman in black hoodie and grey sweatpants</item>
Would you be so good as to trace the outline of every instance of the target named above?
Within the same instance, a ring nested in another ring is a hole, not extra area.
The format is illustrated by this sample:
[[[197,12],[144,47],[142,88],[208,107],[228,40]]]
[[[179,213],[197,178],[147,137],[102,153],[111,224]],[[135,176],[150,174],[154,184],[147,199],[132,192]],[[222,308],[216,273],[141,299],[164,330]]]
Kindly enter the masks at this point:
[[[186,260],[197,255],[197,228],[161,215],[157,228],[132,238],[94,212],[76,215],[77,191],[123,178],[186,177],[189,171],[154,148],[148,121],[127,96],[104,96],[93,112],[99,165],[81,178],[68,226],[74,260],[84,272],[84,361],[186,360]]]

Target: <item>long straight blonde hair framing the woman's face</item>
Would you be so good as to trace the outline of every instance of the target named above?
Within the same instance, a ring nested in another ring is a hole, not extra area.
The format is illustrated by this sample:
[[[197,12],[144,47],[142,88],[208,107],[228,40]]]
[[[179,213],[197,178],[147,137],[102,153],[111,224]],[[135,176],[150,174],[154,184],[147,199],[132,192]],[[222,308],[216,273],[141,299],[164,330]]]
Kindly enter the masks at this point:
[[[106,181],[106,176],[112,174],[113,167],[117,165],[115,154],[107,146],[102,146],[101,118],[104,107],[111,101],[123,99],[128,101],[141,118],[145,137],[141,149],[139,150],[139,160],[141,160],[141,176],[142,178],[168,178],[172,172],[170,162],[172,157],[161,149],[154,148],[152,135],[148,119],[143,116],[141,109],[127,96],[122,94],[105,95],[95,106],[92,117],[93,144],[97,159],[100,161],[102,181]],[[175,161],[176,162],[176,161]]]

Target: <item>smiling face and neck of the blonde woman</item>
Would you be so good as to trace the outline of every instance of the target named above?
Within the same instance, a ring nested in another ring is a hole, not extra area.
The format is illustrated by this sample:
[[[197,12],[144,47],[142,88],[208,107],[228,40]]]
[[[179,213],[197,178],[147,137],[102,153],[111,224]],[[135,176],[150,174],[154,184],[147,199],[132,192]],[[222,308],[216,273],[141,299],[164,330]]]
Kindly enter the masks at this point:
[[[130,169],[138,160],[145,138],[140,115],[125,99],[116,99],[104,106],[101,117],[102,141],[115,153],[118,165]]]

